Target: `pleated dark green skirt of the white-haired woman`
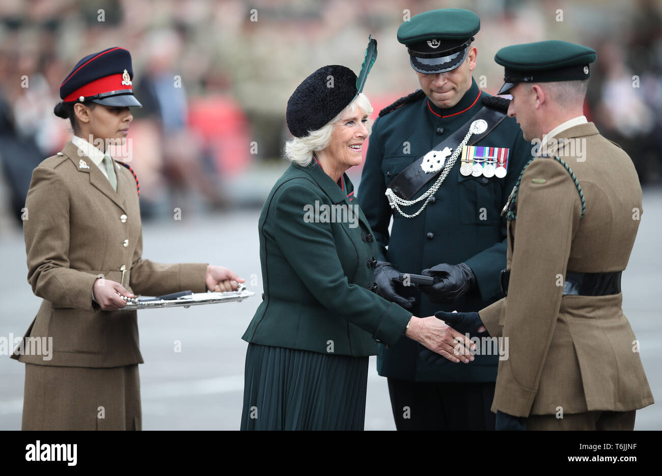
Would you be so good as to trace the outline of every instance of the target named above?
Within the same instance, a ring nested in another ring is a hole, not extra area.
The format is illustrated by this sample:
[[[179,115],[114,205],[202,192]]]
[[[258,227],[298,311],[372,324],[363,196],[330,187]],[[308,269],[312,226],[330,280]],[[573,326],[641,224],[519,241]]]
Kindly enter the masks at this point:
[[[248,344],[242,430],[363,430],[368,357]]]

